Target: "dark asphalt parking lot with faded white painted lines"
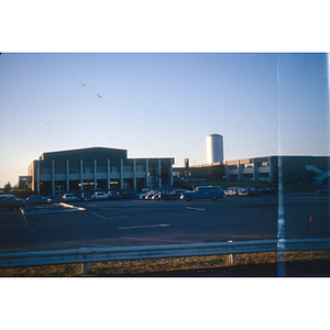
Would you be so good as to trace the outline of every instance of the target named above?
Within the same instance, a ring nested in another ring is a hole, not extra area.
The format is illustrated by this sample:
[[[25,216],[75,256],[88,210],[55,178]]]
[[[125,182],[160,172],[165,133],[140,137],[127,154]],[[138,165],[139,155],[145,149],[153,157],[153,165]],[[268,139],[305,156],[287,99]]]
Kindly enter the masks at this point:
[[[277,197],[218,201],[108,200],[87,210],[0,210],[0,252],[270,240],[277,233]],[[329,238],[329,196],[286,194],[286,238]]]

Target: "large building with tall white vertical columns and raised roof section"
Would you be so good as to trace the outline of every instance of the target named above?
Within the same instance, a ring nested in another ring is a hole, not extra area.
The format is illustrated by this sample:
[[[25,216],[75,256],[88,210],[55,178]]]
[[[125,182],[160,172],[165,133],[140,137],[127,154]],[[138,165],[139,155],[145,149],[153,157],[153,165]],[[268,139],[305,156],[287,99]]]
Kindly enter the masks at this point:
[[[28,169],[41,195],[173,185],[174,158],[128,158],[125,150],[89,147],[43,153]]]

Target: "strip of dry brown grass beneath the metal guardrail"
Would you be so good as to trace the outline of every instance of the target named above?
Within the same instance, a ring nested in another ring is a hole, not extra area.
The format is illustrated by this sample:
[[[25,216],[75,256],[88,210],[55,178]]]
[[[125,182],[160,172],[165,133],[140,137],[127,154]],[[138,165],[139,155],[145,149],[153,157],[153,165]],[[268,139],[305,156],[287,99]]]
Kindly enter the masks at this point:
[[[135,261],[111,261],[88,263],[88,276],[143,276],[178,271],[204,271],[228,266],[274,264],[277,252],[237,254],[235,264],[229,263],[228,255],[148,258]],[[290,251],[284,253],[285,262],[330,261],[330,252]],[[1,277],[76,277],[82,276],[81,264],[44,265],[32,267],[0,268]]]

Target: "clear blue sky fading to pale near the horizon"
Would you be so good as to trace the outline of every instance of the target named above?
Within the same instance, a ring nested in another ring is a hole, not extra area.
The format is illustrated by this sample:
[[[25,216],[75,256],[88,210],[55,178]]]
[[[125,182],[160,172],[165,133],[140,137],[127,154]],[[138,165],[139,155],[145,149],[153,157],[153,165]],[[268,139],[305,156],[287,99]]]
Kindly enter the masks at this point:
[[[51,151],[206,164],[213,133],[226,161],[329,156],[328,78],[321,53],[2,53],[0,187]]]

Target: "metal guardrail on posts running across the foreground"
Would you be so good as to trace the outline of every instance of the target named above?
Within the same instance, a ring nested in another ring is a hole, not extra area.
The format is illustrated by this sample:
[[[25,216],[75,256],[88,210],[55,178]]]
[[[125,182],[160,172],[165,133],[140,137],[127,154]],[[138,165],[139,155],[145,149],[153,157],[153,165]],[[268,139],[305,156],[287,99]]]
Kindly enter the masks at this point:
[[[2,253],[0,254],[0,267],[81,263],[82,273],[87,274],[87,263],[91,262],[229,254],[231,256],[230,260],[234,263],[234,258],[232,258],[234,254],[297,250],[330,250],[330,239],[81,248],[75,250]]]

